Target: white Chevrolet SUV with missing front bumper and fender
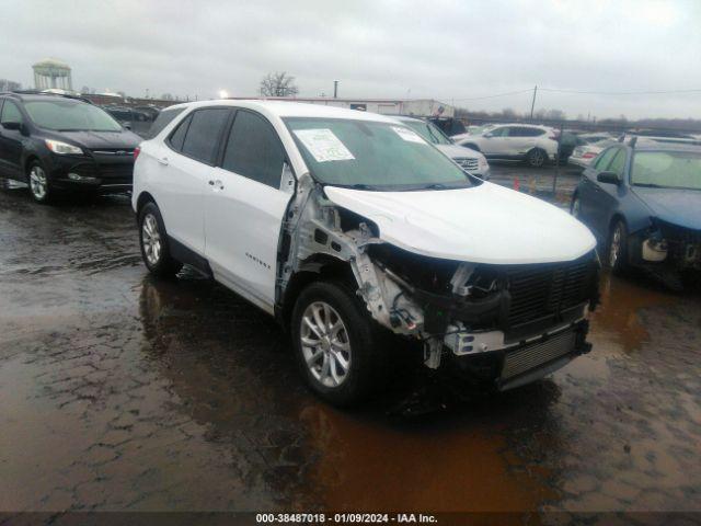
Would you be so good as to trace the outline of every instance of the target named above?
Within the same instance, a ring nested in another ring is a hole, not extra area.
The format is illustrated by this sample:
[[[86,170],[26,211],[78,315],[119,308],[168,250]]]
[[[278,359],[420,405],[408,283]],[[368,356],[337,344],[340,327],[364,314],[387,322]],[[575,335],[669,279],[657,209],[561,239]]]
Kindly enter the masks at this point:
[[[283,101],[170,111],[135,153],[146,266],[186,263],[276,316],[330,402],[367,397],[417,345],[426,366],[487,389],[589,350],[595,239],[565,211],[467,175],[387,116]]]

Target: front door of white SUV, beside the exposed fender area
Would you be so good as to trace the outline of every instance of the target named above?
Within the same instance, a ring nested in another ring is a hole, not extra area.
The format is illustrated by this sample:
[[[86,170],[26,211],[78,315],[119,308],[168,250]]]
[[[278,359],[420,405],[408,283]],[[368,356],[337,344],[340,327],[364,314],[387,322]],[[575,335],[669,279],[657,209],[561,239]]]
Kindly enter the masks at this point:
[[[215,276],[268,311],[291,197],[280,191],[285,162],[273,125],[256,112],[238,110],[205,198],[206,258]]]

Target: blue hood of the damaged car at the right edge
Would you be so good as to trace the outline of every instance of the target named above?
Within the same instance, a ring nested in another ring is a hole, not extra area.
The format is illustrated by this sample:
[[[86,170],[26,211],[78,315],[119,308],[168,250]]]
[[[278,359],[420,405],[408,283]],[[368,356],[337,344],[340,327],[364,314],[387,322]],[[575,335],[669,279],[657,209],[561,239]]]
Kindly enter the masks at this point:
[[[634,186],[633,192],[658,219],[701,230],[701,191]]]

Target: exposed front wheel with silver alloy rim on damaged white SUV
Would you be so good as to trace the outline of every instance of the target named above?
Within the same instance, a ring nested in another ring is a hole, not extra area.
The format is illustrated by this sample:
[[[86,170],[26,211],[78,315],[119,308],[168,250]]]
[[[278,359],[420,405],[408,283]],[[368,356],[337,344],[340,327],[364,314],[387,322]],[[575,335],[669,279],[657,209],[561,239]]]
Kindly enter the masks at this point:
[[[332,404],[358,403],[381,380],[386,350],[379,329],[345,285],[318,282],[304,288],[290,332],[307,385]]]

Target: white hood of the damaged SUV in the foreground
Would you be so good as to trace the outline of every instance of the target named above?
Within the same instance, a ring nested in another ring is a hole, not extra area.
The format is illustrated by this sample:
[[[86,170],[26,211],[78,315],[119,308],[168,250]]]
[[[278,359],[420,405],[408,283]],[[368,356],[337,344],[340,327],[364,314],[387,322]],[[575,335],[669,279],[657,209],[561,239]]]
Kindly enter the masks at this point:
[[[423,192],[324,190],[337,206],[375,221],[383,241],[432,258],[550,263],[575,260],[596,245],[570,214],[492,183]]]

